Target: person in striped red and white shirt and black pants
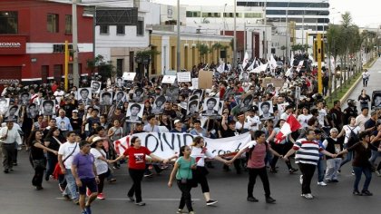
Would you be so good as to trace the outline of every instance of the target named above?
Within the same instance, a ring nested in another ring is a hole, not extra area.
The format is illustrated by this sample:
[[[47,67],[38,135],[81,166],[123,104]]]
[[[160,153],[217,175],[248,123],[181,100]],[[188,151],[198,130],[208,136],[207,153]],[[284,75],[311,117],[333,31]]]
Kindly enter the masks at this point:
[[[314,196],[311,194],[310,185],[318,165],[319,152],[332,158],[336,157],[336,154],[325,151],[319,146],[314,130],[308,130],[306,138],[296,141],[292,149],[283,157],[284,160],[288,161],[288,157],[296,153],[295,162],[298,164],[302,173],[300,176],[300,184],[302,185],[301,196],[305,199],[314,199]]]

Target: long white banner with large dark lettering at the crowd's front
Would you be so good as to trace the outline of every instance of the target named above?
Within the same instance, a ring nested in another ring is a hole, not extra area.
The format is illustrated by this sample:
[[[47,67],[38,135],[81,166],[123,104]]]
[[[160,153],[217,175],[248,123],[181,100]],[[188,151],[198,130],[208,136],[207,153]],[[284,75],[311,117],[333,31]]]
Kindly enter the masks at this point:
[[[128,135],[114,141],[114,147],[118,154],[122,154],[130,146],[132,136],[137,136],[142,140],[142,146],[147,147],[153,154],[168,159],[174,154],[179,153],[181,146],[190,145],[195,136],[188,133],[171,132],[142,132]],[[221,139],[204,138],[208,151],[216,155],[226,155],[237,152],[251,141],[250,133],[240,134],[238,136]]]

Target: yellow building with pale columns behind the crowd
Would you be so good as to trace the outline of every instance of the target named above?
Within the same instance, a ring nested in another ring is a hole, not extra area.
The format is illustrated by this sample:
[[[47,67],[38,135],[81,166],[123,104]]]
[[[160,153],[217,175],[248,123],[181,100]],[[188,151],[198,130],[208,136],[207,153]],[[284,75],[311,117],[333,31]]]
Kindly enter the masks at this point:
[[[151,33],[151,49],[159,54],[151,59],[150,75],[164,74],[177,68],[177,34],[172,29],[175,25],[165,26],[164,30],[155,30]],[[232,62],[233,53],[230,43],[232,36],[220,34],[196,34],[181,32],[181,69],[190,71],[193,65],[199,63],[219,63],[223,58],[225,63]],[[210,49],[204,57],[200,57],[198,44],[206,44]],[[220,44],[220,45],[215,45]],[[213,48],[220,46],[220,49]]]

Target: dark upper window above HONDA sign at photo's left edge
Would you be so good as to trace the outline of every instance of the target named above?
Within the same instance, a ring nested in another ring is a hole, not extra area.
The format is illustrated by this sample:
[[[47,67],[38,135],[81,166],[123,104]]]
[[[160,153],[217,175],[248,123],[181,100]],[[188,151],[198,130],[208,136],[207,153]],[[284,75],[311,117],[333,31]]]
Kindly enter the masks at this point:
[[[18,13],[15,11],[0,12],[0,34],[17,34]]]

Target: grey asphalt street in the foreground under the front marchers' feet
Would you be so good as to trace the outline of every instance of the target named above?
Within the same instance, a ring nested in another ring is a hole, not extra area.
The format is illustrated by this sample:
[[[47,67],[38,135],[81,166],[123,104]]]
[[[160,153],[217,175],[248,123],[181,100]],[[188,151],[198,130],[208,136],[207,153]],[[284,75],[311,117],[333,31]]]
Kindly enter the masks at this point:
[[[79,208],[72,202],[61,199],[57,181],[44,181],[44,190],[37,191],[31,185],[33,170],[27,160],[27,153],[20,154],[19,166],[10,174],[0,173],[0,213],[80,213]],[[350,175],[350,166],[342,169],[340,182],[328,184],[327,187],[317,185],[314,178],[312,192],[316,199],[306,200],[300,197],[298,175],[286,172],[285,164],[278,162],[278,174],[269,174],[272,196],[276,204],[266,204],[260,180],[254,190],[258,203],[246,201],[247,173],[236,175],[234,171],[223,172],[221,165],[210,170],[209,181],[211,196],[218,199],[215,207],[206,207],[200,188],[192,190],[194,209],[197,213],[358,213],[366,209],[367,213],[379,212],[381,199],[381,178],[374,176],[370,189],[375,193],[372,197],[355,197],[351,194],[354,177]],[[180,190],[177,187],[169,189],[166,184],[170,170],[165,170],[160,176],[144,179],[142,196],[147,206],[137,207],[126,200],[126,192],[132,181],[127,175],[125,165],[116,171],[117,182],[105,186],[106,199],[97,200],[93,204],[93,213],[175,213],[179,203]],[[363,180],[362,180],[363,181]],[[334,210],[334,211],[333,211]]]

